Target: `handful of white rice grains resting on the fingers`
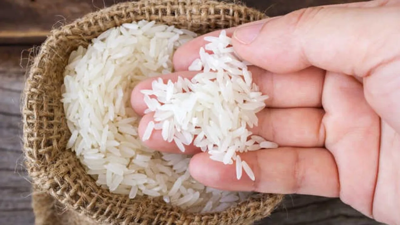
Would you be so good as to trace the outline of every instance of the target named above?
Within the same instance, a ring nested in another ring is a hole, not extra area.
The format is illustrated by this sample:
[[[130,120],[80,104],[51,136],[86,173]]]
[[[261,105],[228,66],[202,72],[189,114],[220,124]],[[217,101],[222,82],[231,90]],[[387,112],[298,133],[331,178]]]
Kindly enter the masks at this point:
[[[178,77],[177,82],[168,80],[167,84],[159,78],[153,81],[152,90],[142,90],[148,106],[145,113],[155,112],[156,121],[148,124],[143,141],[154,129],[162,130],[164,141],[174,141],[182,152],[184,145],[194,143],[212,160],[225,165],[236,161],[238,180],[244,170],[254,181],[252,169],[238,153],[278,147],[247,129],[258,125],[256,113],[265,108],[268,96],[253,83],[248,63],[234,54],[225,30],[219,37],[204,40],[210,43],[200,48],[200,58],[189,66],[189,70],[202,72],[191,80]]]

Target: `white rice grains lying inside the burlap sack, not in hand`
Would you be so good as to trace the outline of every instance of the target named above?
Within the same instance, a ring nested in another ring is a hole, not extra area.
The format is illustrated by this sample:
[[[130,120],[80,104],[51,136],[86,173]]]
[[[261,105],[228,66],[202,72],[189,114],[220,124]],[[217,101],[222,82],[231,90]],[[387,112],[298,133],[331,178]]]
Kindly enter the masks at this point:
[[[130,92],[148,76],[172,72],[174,50],[194,36],[142,20],[111,28],[71,53],[62,88],[72,133],[67,148],[98,185],[130,198],[162,197],[192,212],[222,211],[250,195],[204,187],[190,177],[189,156],[148,149],[138,137]]]

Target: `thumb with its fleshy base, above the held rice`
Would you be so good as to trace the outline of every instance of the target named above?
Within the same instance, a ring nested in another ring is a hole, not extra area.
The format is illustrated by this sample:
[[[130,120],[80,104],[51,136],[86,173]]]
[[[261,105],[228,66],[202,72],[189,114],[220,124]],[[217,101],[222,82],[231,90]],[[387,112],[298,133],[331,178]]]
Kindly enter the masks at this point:
[[[399,12],[395,6],[308,8],[244,24],[232,43],[244,60],[272,72],[316,66],[363,77],[367,101],[399,132]]]

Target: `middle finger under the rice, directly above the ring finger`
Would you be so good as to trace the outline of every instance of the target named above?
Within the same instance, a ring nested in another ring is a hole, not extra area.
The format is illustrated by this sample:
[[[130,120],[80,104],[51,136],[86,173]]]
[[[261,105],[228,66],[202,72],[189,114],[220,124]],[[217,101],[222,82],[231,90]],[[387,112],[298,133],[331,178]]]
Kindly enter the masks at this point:
[[[315,67],[293,72],[290,74],[273,74],[261,68],[251,66],[253,80],[260,87],[260,91],[270,98],[266,100],[268,107],[293,108],[293,107],[321,107],[324,71]],[[197,72],[184,71],[162,75],[164,82],[168,79],[176,81],[178,76],[192,78]],[[156,78],[140,82],[132,91],[131,104],[133,109],[143,115],[146,110],[144,95],[140,90],[151,89],[151,83]]]

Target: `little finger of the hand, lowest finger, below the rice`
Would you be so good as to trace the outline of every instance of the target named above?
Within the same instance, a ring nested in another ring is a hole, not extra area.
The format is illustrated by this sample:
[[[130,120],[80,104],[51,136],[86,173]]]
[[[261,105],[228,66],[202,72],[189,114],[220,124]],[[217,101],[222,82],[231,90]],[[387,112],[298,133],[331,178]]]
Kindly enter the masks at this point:
[[[235,165],[212,161],[207,153],[194,155],[190,174],[206,186],[229,191],[339,196],[338,171],[326,149],[279,148],[241,155],[256,177],[243,172],[236,179]]]

